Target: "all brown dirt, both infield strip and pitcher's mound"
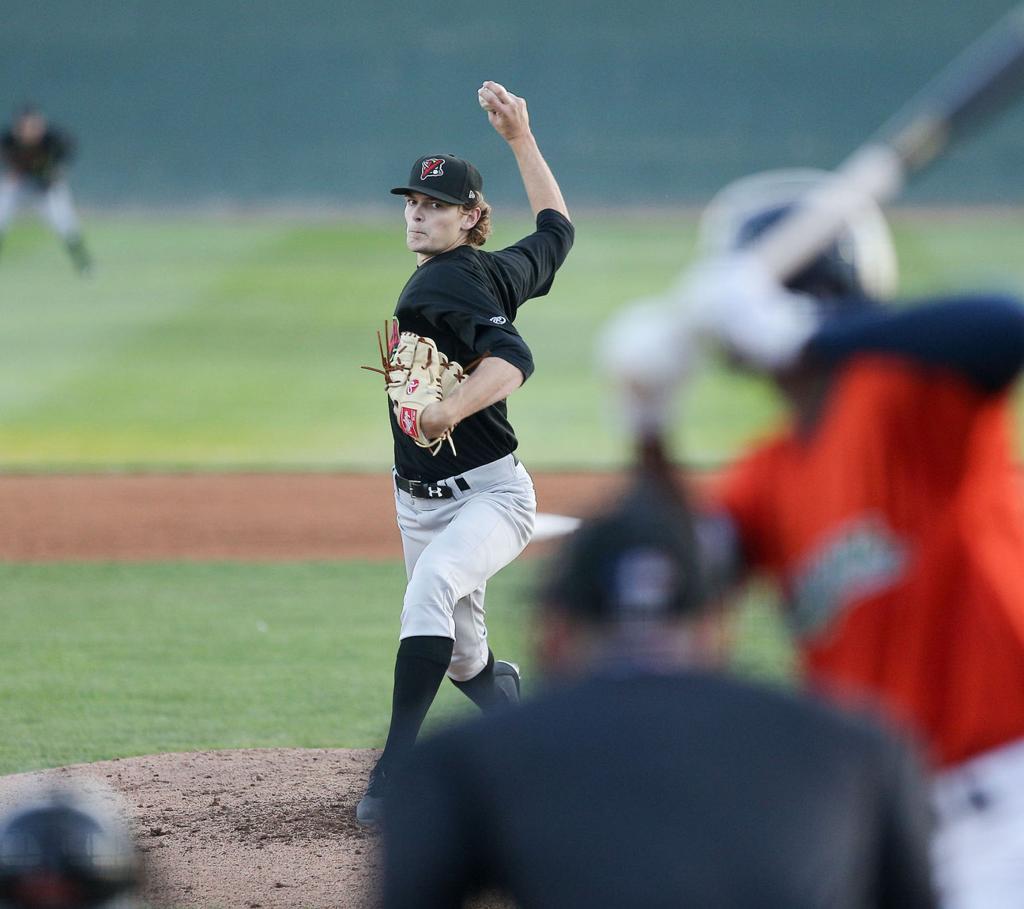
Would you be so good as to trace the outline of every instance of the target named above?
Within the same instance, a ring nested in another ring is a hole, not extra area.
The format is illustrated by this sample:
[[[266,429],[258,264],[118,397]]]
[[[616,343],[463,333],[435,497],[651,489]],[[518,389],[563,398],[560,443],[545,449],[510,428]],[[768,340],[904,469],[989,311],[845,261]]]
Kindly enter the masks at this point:
[[[534,479],[539,510],[570,516],[589,514],[623,483],[600,473]],[[399,559],[391,494],[386,474],[0,476],[0,561]],[[0,777],[0,811],[40,782],[95,779],[124,798],[155,905],[371,907],[378,842],[353,815],[375,756],[257,749],[123,759]]]

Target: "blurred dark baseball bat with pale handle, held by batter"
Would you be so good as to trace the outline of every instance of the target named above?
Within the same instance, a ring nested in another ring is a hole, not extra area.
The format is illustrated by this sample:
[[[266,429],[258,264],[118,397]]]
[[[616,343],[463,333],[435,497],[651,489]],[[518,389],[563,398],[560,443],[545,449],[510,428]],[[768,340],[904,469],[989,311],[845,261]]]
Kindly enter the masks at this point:
[[[928,82],[878,133],[810,190],[749,250],[779,280],[836,237],[858,200],[885,203],[953,143],[1024,90],[1024,4],[1012,9]]]

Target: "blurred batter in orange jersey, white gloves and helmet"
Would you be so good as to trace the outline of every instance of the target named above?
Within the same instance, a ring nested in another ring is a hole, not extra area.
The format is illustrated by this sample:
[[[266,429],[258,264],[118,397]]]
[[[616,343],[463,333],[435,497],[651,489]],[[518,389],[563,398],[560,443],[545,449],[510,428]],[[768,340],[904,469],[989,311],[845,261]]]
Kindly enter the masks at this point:
[[[827,179],[778,172],[724,189],[701,224],[710,263],[671,302],[664,331],[682,361],[712,342],[791,406],[788,425],[715,484],[705,558],[723,587],[777,579],[810,683],[879,702],[927,744],[946,905],[1018,905],[1024,508],[1010,405],[1024,308],[993,294],[880,305],[895,257],[866,199],[778,286],[741,251]],[[657,423],[664,376],[635,364],[630,333],[653,311],[628,311],[605,341],[641,433]]]

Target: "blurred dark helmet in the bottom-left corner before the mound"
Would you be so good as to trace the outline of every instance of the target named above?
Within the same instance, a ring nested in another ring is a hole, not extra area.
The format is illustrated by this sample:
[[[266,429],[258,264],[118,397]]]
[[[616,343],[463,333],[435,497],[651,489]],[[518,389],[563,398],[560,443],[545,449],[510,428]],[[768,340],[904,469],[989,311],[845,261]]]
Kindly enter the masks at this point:
[[[53,792],[0,822],[2,909],[111,907],[139,882],[128,829],[98,799]]]

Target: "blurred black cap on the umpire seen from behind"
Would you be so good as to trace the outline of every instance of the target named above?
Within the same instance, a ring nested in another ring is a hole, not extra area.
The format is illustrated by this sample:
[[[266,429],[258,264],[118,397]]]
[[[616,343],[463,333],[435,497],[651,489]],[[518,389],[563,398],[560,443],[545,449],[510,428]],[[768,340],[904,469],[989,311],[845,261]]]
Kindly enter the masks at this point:
[[[641,481],[585,521],[549,567],[541,606],[595,624],[703,611],[693,520],[681,493]]]

